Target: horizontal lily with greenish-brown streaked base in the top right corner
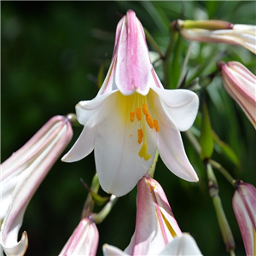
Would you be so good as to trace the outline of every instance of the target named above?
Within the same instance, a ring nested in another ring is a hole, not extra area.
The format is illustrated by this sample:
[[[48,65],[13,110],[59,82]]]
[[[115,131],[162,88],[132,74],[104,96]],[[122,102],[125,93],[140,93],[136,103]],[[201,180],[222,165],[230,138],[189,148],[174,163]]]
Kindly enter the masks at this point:
[[[256,54],[256,26],[223,20],[177,20],[177,28],[189,41],[240,45]]]

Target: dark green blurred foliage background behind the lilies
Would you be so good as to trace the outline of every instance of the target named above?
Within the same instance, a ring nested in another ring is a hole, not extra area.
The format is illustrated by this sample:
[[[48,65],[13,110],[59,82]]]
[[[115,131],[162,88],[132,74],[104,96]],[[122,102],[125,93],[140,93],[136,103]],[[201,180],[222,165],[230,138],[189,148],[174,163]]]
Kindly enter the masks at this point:
[[[255,1],[2,1],[1,162],[26,143],[52,116],[73,113],[76,103],[96,96],[99,68],[105,61],[104,73],[107,73],[115,28],[127,9],[137,13],[163,51],[170,41],[172,20],[215,19],[255,25],[256,15]],[[174,68],[177,73],[189,47],[189,42],[184,39],[180,44],[180,57]],[[150,45],[149,49],[152,49]],[[204,62],[206,60],[208,62]],[[212,73],[220,60],[240,61],[256,73],[255,56],[247,49],[197,43],[189,60],[189,72],[193,73],[198,65],[206,63],[208,67],[202,75]],[[163,79],[161,66],[156,71]],[[170,77],[177,76],[175,72],[170,68]],[[255,186],[255,130],[224,91],[219,77],[207,88],[207,106],[212,129],[230,145],[240,161],[236,164],[230,161],[218,147],[212,159],[221,163],[233,177]],[[79,137],[82,128],[76,127],[73,131],[73,141],[68,148]],[[185,136],[183,143],[200,182],[182,181],[169,172],[161,160],[154,178],[165,189],[181,230],[195,237],[201,252],[204,255],[229,255],[208,195],[206,172]],[[61,252],[79,224],[87,195],[80,177],[90,184],[94,173],[93,154],[73,164],[57,161],[26,210],[20,229],[21,232],[26,230],[29,237],[26,255],[57,255]],[[244,255],[231,205],[234,189],[217,171],[215,173],[224,211],[236,240],[236,255]],[[100,194],[107,195],[102,190]],[[98,225],[98,255],[102,255],[104,243],[120,249],[129,244],[135,229],[136,195],[135,188],[121,197],[108,218]],[[96,207],[96,211],[100,209]]]

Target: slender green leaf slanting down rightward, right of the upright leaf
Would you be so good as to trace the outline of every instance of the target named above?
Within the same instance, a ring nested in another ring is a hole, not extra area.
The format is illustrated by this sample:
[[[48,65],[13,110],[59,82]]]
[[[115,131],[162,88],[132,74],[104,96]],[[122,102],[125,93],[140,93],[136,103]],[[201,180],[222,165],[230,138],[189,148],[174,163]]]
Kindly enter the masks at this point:
[[[236,166],[240,166],[240,161],[236,155],[236,153],[233,151],[232,148],[227,143],[224,143],[218,135],[212,131],[212,137],[215,142],[215,148],[220,154],[224,154],[226,157],[228,157],[229,160],[231,160]]]

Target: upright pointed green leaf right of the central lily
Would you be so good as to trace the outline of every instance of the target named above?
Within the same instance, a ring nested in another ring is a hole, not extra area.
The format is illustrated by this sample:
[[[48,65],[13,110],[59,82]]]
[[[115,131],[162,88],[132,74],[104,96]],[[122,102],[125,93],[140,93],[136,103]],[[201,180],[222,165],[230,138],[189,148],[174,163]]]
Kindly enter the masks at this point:
[[[201,159],[210,159],[213,152],[213,138],[211,121],[205,100],[202,101],[201,137],[199,142],[201,144]]]

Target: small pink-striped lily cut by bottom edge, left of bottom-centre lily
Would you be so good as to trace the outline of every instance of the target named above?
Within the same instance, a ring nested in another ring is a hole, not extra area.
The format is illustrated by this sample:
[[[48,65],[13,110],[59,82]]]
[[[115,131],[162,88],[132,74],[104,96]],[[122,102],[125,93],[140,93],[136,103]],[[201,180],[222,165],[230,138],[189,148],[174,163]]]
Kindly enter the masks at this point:
[[[60,256],[95,256],[99,242],[99,232],[96,224],[89,218],[82,218],[73,231]]]

